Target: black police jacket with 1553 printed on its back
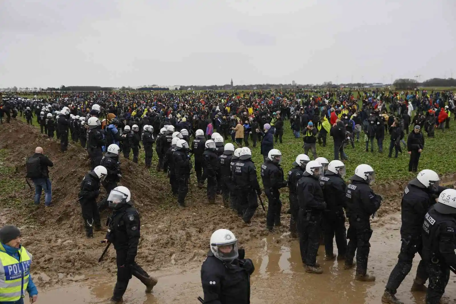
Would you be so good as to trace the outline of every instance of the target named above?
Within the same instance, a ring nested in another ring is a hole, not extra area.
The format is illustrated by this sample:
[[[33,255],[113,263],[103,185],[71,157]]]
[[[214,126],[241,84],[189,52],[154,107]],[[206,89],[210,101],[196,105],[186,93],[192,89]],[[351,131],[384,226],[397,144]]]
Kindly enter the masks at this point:
[[[231,179],[238,189],[260,189],[252,159],[235,160],[231,170]]]

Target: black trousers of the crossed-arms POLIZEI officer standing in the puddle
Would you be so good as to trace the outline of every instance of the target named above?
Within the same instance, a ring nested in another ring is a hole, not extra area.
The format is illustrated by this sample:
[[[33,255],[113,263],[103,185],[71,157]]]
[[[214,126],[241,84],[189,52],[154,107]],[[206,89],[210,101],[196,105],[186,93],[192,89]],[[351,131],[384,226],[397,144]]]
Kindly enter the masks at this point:
[[[349,241],[345,263],[353,263],[356,252],[356,274],[366,275],[370,250],[369,240],[372,236],[369,216],[366,216],[366,218],[352,216],[348,218],[348,222],[350,224],[347,231],[347,239]]]

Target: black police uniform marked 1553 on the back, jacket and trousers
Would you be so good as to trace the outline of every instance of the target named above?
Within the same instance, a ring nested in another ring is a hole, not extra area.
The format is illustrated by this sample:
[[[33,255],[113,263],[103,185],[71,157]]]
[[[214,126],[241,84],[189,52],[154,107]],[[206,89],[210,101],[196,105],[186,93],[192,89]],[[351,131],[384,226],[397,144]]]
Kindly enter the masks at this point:
[[[235,206],[238,214],[242,216],[244,222],[249,223],[258,208],[257,195],[261,194],[252,159],[235,160],[231,170],[231,179],[236,192]]]

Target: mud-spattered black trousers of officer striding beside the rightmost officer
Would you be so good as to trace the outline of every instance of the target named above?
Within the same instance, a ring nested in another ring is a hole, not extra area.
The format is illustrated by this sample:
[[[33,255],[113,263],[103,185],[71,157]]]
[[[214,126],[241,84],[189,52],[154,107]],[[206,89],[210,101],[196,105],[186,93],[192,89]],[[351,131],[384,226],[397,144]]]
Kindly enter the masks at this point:
[[[385,288],[391,294],[396,294],[399,285],[402,283],[402,281],[404,281],[404,278],[407,276],[407,274],[409,274],[410,269],[412,269],[412,263],[413,258],[415,258],[415,254],[418,252],[421,255],[421,249],[423,247],[421,236],[406,236],[403,237],[401,241],[402,244],[398,256],[398,263],[396,266],[394,266],[393,271],[391,271],[388,283],[386,284]],[[428,278],[426,264],[423,260],[421,260],[418,264],[416,277],[420,279],[422,283],[425,283]]]

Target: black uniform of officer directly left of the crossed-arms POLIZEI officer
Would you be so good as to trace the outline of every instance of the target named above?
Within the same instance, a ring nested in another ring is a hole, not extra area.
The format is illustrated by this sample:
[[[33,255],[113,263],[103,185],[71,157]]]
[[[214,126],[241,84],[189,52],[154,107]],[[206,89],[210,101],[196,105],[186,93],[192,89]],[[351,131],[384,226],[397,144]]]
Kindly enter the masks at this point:
[[[347,253],[347,230],[343,208],[347,206],[345,200],[347,185],[340,175],[326,171],[326,175],[320,177],[320,186],[326,202],[322,223],[326,257],[333,256],[332,241],[336,237],[337,256],[339,259],[344,259]]]

